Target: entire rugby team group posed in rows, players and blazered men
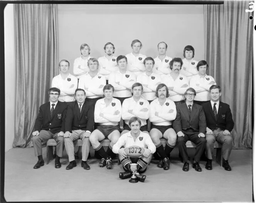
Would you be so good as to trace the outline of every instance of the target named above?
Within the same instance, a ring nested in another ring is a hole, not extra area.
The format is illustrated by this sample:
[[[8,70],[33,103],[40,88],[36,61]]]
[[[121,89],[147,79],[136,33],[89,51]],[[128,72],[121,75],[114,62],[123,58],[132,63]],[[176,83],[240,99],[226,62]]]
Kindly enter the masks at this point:
[[[132,52],[116,57],[115,46],[108,42],[105,55],[96,59],[89,45],[82,44],[81,56],[74,60],[76,76],[69,73],[69,61],[59,62],[60,74],[52,79],[50,101],[40,106],[35,120],[32,142],[38,162],[34,168],[44,165],[42,143],[53,138],[57,143],[55,168],[61,168],[64,147],[69,158],[66,169],[76,167],[73,142],[81,139],[85,170],[90,169],[91,146],[101,157],[99,167],[113,168],[111,159],[118,154],[125,170],[119,174],[122,179],[131,177],[131,163],[137,164],[140,177],[152,154],[160,157],[157,167],[168,170],[177,143],[182,170],[188,171],[185,144],[191,140],[196,145],[192,161],[196,171],[202,171],[202,155],[207,160],[205,168],[212,170],[215,141],[222,144],[222,166],[231,170],[228,159],[234,122],[229,105],[220,101],[221,87],[206,74],[207,62],[195,61],[190,45],[184,48],[184,59],[168,57],[165,42],[158,43],[155,59],[141,54],[141,48],[141,41],[133,40]],[[165,148],[161,138],[167,140]],[[107,150],[100,143],[103,139],[110,140]],[[133,145],[144,149],[138,158],[124,150]]]

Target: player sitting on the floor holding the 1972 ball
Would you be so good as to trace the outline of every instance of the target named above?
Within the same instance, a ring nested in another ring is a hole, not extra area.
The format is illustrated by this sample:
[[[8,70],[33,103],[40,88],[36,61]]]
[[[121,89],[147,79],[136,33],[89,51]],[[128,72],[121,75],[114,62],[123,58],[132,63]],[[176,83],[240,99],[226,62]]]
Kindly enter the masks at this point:
[[[126,132],[121,135],[116,144],[113,146],[113,152],[119,154],[119,159],[123,165],[123,169],[126,172],[119,173],[121,179],[129,178],[132,175],[130,170],[131,163],[137,163],[137,171],[144,173],[147,170],[148,163],[150,163],[152,154],[155,152],[155,145],[153,144],[150,136],[147,133],[140,131],[141,122],[137,117],[132,117],[129,120],[130,132]],[[125,153],[125,148],[136,145],[145,149],[143,155],[140,158],[128,157]],[[121,148],[124,146],[124,148]],[[140,181],[144,181],[146,176],[142,176],[139,173],[135,174]]]

